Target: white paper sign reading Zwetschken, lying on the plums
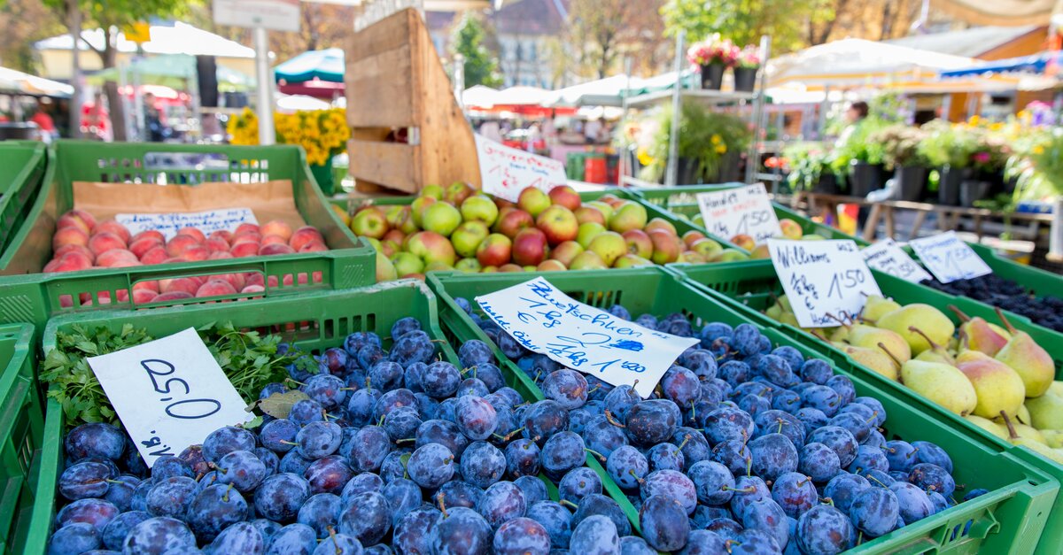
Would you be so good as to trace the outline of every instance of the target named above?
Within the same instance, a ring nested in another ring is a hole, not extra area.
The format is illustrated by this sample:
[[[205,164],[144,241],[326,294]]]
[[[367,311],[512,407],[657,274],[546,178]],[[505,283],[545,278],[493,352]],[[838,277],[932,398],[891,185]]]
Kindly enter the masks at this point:
[[[576,302],[542,278],[477,297],[476,302],[525,349],[615,386],[638,381],[635,390],[643,399],[672,363],[698,342]]]

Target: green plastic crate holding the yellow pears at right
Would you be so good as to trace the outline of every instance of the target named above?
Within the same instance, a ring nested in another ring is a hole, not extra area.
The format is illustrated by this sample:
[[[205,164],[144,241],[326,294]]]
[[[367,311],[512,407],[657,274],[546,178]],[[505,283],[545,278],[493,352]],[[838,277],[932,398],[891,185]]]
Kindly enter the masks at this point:
[[[819,350],[829,356],[839,366],[849,368],[853,372],[866,376],[867,380],[878,383],[880,387],[891,390],[908,391],[910,396],[924,400],[922,396],[907,389],[900,383],[867,370],[853,360],[853,358],[844,352],[821,341],[811,334],[792,325],[772,320],[767,316],[761,314],[761,310],[772,304],[774,297],[778,297],[783,293],[782,285],[779,283],[778,278],[775,274],[775,268],[772,266],[771,260],[758,260],[756,264],[720,264],[715,266],[672,265],[669,267],[669,270],[685,276],[695,286],[702,287],[715,298],[727,302],[729,305],[736,307],[736,309],[741,310],[747,318],[755,320],[758,324],[764,327],[778,330],[781,333],[793,337],[803,344]],[[968,316],[981,316],[990,321],[997,321],[996,314],[992,310],[992,308],[982,303],[975,303],[968,299],[954,297],[930,289],[929,287],[915,285],[877,270],[873,270],[873,273],[875,275],[875,281],[882,290],[882,295],[892,297],[900,304],[929,304],[942,310],[942,313],[951,318],[956,324],[959,324],[959,319],[947,308],[949,304],[959,306]],[[1045,330],[1043,327],[1029,324],[1028,320],[1020,319],[1018,317],[1012,318],[1011,316],[1009,316],[1009,320],[1015,325],[1015,327],[1029,333],[1037,344],[1044,348],[1045,351],[1051,355],[1052,360],[1056,363],[1056,379],[1063,380],[1063,342],[1059,340],[1053,341],[1051,337],[1044,335]],[[984,440],[996,445],[997,449],[1011,452],[1016,457],[1035,465],[1037,468],[1050,474],[1054,478],[1063,481],[1063,465],[1059,465],[1042,457],[1026,448],[1016,448],[976,426],[975,424],[972,424],[952,413],[949,413],[935,403],[925,400],[924,402],[929,407],[932,407],[930,410],[933,413],[934,417],[938,420],[943,421],[947,426],[952,428],[962,428],[967,433],[980,435]],[[1037,546],[1036,553],[1039,554],[1059,553],[1059,548],[1063,545],[1063,500],[1060,501],[1061,506],[1053,509],[1051,516],[1049,517],[1048,524],[1045,528],[1046,540],[1043,544]]]

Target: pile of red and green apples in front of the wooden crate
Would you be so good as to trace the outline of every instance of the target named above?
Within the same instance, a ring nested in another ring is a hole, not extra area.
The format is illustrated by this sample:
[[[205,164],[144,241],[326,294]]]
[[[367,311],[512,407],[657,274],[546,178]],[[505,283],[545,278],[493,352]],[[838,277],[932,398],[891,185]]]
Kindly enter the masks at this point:
[[[455,183],[429,185],[409,205],[361,206],[351,231],[377,250],[377,280],[465,272],[630,268],[745,258],[699,232],[681,237],[635,201],[583,202],[567,185],[521,191],[516,203]]]

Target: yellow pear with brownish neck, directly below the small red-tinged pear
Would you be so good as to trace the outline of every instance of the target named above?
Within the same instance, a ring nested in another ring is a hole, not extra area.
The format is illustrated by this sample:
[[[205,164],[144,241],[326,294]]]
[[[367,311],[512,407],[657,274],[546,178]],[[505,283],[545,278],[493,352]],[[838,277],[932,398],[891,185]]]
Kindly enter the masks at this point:
[[[964,351],[956,357],[956,367],[971,380],[978,394],[974,414],[994,418],[1001,411],[1015,416],[1026,400],[1023,379],[1008,365],[979,351]]]

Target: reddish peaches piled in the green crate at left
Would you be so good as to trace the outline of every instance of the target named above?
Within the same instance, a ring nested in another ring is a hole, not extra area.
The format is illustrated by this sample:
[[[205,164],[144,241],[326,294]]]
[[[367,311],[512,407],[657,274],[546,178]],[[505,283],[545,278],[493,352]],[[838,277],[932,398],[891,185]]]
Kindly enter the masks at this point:
[[[241,258],[327,251],[324,237],[316,228],[305,225],[293,230],[280,220],[241,223],[234,232],[216,231],[204,234],[196,228],[185,228],[167,240],[162,233],[147,230],[130,234],[115,220],[97,221],[85,211],[73,209],[60,216],[52,237],[52,259],[44,272],[73,272],[94,268],[126,268],[179,264],[199,260]],[[301,275],[300,280],[307,276]],[[315,283],[321,275],[310,275]],[[292,276],[284,279],[291,285]],[[184,276],[172,280],[144,281],[133,287],[133,303],[142,304],[182,299],[258,293],[266,286],[279,285],[275,276],[266,279],[256,272],[226,273],[203,276]],[[104,291],[104,293],[106,293]],[[117,291],[119,302],[129,302],[128,290]],[[81,304],[91,301],[83,295]],[[109,302],[109,293],[100,298]],[[69,306],[71,300],[64,301]]]

